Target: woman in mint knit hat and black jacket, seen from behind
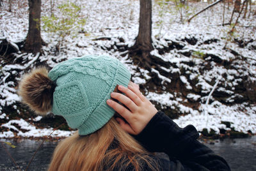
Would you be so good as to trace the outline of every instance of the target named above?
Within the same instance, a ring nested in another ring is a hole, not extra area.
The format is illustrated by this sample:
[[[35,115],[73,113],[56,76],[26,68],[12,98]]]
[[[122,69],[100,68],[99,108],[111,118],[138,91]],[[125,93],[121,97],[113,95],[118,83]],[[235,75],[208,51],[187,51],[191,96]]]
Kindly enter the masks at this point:
[[[157,112],[130,79],[120,61],[105,56],[70,59],[22,78],[24,103],[38,114],[62,115],[78,130],[58,144],[49,170],[230,170],[196,140],[193,126],[179,128]]]

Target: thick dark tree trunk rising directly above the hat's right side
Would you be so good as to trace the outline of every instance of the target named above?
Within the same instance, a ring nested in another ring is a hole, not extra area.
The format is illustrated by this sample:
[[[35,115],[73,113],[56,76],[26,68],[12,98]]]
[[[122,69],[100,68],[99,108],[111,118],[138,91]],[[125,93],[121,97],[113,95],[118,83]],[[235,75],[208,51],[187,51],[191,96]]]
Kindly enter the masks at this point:
[[[141,57],[140,63],[144,66],[150,66],[151,60],[149,57],[152,46],[152,1],[140,0],[140,26],[136,42],[131,47],[131,52],[136,52]],[[134,54],[133,54],[134,55]]]

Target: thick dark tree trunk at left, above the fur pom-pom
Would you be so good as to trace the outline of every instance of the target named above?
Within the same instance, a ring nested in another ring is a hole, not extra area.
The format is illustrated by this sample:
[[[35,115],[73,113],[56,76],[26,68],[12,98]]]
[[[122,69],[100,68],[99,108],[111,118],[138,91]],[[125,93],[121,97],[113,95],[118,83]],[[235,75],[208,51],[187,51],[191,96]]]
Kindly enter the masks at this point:
[[[29,0],[29,29],[25,41],[25,50],[36,54],[41,51],[42,38],[40,31],[41,0]]]

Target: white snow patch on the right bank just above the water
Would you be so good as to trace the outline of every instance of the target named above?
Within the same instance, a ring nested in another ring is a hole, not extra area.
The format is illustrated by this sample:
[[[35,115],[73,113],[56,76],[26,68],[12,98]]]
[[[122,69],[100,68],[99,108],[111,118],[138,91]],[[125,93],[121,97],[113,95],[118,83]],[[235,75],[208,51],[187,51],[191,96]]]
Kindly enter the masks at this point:
[[[214,105],[217,105],[218,107]],[[220,128],[225,128],[227,130],[226,126],[221,124],[221,121],[228,121],[231,123],[230,127],[235,128],[236,131],[246,133],[250,130],[255,132],[255,106],[244,107],[244,110],[247,110],[246,113],[240,112],[239,105],[228,107],[227,105],[221,105],[218,102],[211,103],[211,105],[202,104],[200,109],[204,110],[204,108],[209,112],[206,117],[205,115],[194,112],[193,114],[180,116],[179,119],[174,119],[173,121],[182,127],[188,124],[193,124],[197,130],[207,128],[208,131],[212,129],[216,131],[216,133],[220,133]]]

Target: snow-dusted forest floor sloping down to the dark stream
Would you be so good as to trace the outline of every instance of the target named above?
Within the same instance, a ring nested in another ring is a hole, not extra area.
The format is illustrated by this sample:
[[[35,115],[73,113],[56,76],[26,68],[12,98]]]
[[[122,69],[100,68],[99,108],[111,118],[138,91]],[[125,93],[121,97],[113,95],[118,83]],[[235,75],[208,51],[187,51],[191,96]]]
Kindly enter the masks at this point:
[[[65,17],[54,1],[52,13]],[[8,11],[3,1],[0,11],[0,138],[45,138],[65,122],[62,117],[38,116],[20,103],[20,77],[35,66],[52,68],[57,63],[85,55],[116,57],[131,71],[132,80],[157,109],[163,110],[180,127],[193,124],[202,136],[211,138],[248,137],[256,133],[256,5],[246,19],[238,13],[227,23],[233,6],[216,4],[188,23],[189,17],[207,3],[183,8],[172,1],[152,4],[150,53],[154,65],[145,69],[132,61],[129,48],[138,34],[139,1],[74,1],[83,26],[72,26],[64,37],[49,33],[42,22],[45,45],[40,54],[22,50],[28,33],[28,3],[18,1]],[[42,0],[42,17],[51,16],[51,1]],[[223,9],[224,15],[223,15]],[[181,15],[182,14],[182,15]],[[181,17],[182,16],[182,17]],[[62,17],[62,18],[61,18]],[[78,19],[78,20],[79,20]],[[224,25],[222,26],[222,24]],[[77,23],[78,24],[78,23]],[[51,137],[72,134],[67,124]]]

